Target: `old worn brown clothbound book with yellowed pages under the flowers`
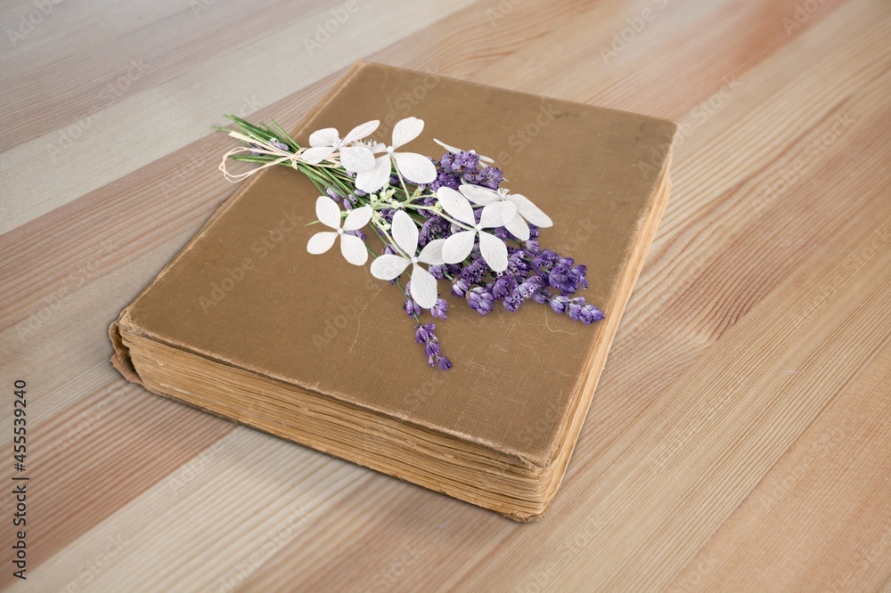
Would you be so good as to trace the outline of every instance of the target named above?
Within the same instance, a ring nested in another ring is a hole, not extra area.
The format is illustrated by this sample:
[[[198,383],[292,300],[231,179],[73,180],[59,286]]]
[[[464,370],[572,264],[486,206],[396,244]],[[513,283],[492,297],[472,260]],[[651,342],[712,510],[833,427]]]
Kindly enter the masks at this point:
[[[449,309],[429,368],[403,296],[337,249],[307,253],[318,191],[290,167],[243,183],[111,324],[112,362],[155,394],[518,521],[543,516],[666,207],[676,124],[356,63],[293,137],[413,115],[495,158],[551,215],[541,243],[587,264],[593,325],[529,302]],[[222,176],[220,183],[226,183]],[[440,294],[455,302],[448,285]]]

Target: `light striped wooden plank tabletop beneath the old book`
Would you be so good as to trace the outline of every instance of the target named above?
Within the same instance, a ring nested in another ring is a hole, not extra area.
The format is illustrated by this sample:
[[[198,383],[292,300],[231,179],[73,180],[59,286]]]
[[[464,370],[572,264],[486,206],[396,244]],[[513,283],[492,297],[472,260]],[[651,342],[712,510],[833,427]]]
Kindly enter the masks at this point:
[[[887,0],[0,4],[0,380],[33,591],[891,589]],[[327,28],[327,30],[326,30]],[[515,524],[127,384],[109,322],[354,60],[682,123],[549,516]],[[4,479],[13,474],[12,459]]]

